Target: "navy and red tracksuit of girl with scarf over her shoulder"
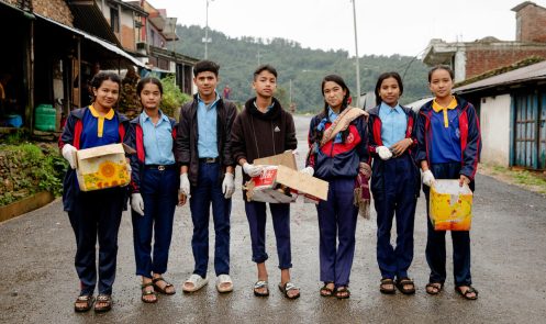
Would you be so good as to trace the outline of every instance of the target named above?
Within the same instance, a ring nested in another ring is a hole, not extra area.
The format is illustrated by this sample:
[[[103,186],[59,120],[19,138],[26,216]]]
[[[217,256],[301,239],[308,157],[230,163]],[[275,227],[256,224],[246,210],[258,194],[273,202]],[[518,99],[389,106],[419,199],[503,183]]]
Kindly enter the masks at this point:
[[[321,281],[334,282],[337,288],[349,283],[358,216],[358,208],[354,204],[355,180],[359,163],[368,161],[368,153],[364,119],[352,122],[345,141],[339,133],[322,147],[317,147],[315,139],[320,138],[315,138],[316,133],[327,130],[334,120],[335,116],[327,118],[324,113],[311,120],[309,141],[310,146],[315,146],[315,150],[310,154],[307,166],[313,167],[314,177],[328,182],[327,200],[321,200],[316,206]]]

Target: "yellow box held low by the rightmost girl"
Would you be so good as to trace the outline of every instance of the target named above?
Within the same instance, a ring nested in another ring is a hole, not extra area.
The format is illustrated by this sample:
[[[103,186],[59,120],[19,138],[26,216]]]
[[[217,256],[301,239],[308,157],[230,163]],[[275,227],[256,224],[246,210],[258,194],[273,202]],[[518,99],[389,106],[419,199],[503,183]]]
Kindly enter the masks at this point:
[[[459,180],[436,180],[431,188],[430,216],[436,231],[470,231],[472,191]]]

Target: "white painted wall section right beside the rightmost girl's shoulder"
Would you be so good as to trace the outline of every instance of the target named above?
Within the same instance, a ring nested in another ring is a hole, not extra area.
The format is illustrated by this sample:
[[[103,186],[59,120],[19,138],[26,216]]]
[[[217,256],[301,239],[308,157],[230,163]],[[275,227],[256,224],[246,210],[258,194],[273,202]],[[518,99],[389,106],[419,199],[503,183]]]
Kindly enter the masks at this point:
[[[481,161],[509,166],[510,159],[510,94],[481,99]]]

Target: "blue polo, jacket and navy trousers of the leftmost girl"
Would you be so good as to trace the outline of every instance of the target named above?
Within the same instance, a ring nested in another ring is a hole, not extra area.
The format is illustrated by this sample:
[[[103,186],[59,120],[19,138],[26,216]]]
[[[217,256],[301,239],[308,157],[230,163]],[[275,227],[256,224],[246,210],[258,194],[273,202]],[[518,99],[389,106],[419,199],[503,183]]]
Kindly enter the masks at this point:
[[[74,110],[59,138],[59,147],[70,144],[76,149],[121,143],[127,120],[113,110],[105,116],[92,107]],[[76,236],[75,266],[80,279],[80,294],[92,294],[99,277],[99,293],[111,294],[115,279],[118,232],[122,211],[126,208],[126,188],[97,191],[79,190],[76,170],[68,168],[64,179],[63,204]],[[97,270],[97,239],[99,267]]]

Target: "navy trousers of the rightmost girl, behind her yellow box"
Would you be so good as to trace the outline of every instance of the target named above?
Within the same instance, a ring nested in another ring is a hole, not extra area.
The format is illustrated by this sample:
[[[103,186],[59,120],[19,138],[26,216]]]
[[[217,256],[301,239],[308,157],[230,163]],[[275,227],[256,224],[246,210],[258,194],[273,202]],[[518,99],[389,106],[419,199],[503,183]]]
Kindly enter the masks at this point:
[[[460,163],[433,164],[430,169],[436,179],[459,179]],[[473,181],[470,189],[473,191]],[[431,189],[423,186],[423,192],[428,205]],[[431,223],[428,209],[427,239],[426,239],[426,261],[431,268],[430,282],[444,282],[446,280],[446,231],[434,231]],[[470,286],[472,283],[470,275],[470,232],[452,231],[453,242],[453,272],[455,286]]]

